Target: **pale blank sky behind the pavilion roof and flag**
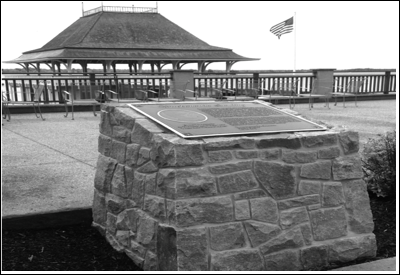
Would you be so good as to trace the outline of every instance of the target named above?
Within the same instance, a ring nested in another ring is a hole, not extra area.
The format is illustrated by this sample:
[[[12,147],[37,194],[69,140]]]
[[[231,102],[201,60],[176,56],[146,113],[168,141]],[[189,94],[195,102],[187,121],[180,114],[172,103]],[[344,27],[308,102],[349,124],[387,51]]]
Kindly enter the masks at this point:
[[[206,43],[260,58],[236,63],[232,70],[392,69],[399,64],[398,1],[1,1],[1,61],[45,45],[82,16],[82,3],[86,11],[101,2],[158,5],[164,17]],[[294,32],[278,39],[269,31],[294,15]],[[207,69],[225,69],[225,64]]]

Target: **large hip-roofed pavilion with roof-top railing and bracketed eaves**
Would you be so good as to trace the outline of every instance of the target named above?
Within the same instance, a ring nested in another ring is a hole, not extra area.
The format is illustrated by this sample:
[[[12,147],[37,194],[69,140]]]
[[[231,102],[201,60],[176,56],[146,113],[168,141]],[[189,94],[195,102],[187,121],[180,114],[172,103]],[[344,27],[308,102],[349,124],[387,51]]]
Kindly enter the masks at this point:
[[[29,72],[40,72],[44,64],[56,73],[63,65],[71,72],[79,64],[88,72],[89,64],[102,64],[104,72],[116,72],[117,64],[129,71],[142,72],[149,64],[152,72],[161,72],[171,64],[179,70],[185,64],[197,64],[199,72],[213,62],[225,62],[226,72],[239,61],[259,60],[240,56],[231,49],[211,46],[158,13],[156,8],[108,7],[82,12],[82,17],[45,44],[24,52],[16,63]]]

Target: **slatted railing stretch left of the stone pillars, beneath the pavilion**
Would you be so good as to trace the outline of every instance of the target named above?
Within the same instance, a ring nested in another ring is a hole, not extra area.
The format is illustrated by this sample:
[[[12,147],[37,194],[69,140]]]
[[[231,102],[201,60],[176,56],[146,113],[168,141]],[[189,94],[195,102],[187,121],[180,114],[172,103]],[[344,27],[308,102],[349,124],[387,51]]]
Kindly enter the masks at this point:
[[[118,74],[90,77],[83,74],[62,74],[62,76],[15,76],[1,78],[2,92],[5,92],[8,100],[31,101],[34,89],[40,82],[44,82],[45,88],[41,97],[44,103],[63,102],[62,91],[73,94],[74,99],[94,99],[97,90],[113,90],[118,92],[120,98],[134,98],[135,90],[153,90],[159,97],[167,97],[170,75],[141,75]],[[3,87],[4,84],[4,87]],[[112,93],[111,98],[115,97]]]

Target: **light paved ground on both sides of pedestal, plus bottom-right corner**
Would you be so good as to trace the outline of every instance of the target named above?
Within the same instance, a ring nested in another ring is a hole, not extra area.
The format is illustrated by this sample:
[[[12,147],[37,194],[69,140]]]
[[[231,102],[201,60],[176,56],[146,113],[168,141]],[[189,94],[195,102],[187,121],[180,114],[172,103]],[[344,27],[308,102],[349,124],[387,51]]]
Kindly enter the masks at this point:
[[[360,132],[364,142],[377,133],[396,128],[393,100],[364,101],[358,108],[349,104],[346,109],[338,106],[326,110],[322,106],[309,111],[307,104],[299,104],[295,110],[309,118],[349,125]],[[23,227],[29,218],[32,224],[48,224],[59,222],[61,214],[72,220],[82,214],[90,216],[100,116],[76,112],[74,121],[64,118],[63,113],[45,113],[44,117],[46,120],[42,121],[34,114],[12,114],[10,122],[2,119],[2,228],[7,225],[5,221],[12,220],[16,224],[24,222]],[[398,271],[396,259],[337,269],[381,270]]]

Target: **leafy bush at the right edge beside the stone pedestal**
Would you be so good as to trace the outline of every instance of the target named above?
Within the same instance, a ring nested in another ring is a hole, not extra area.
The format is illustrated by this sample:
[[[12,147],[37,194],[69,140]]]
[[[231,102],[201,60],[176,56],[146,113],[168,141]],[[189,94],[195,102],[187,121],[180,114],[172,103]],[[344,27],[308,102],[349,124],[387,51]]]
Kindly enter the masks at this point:
[[[378,197],[396,197],[396,131],[370,138],[362,155],[368,191]]]

